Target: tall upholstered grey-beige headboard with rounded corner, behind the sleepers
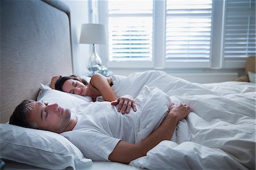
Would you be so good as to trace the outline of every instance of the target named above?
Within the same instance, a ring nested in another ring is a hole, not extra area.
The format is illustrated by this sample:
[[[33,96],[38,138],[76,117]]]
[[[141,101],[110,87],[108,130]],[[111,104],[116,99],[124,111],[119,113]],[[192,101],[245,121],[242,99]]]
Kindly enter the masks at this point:
[[[1,0],[1,123],[39,84],[69,75],[72,46],[69,7],[61,1]]]

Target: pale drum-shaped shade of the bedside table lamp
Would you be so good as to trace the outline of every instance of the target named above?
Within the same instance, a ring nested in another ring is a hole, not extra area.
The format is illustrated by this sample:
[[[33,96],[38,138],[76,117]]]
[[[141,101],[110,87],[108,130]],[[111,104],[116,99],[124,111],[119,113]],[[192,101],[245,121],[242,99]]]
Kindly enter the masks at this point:
[[[80,44],[106,44],[106,32],[103,24],[82,24]]]

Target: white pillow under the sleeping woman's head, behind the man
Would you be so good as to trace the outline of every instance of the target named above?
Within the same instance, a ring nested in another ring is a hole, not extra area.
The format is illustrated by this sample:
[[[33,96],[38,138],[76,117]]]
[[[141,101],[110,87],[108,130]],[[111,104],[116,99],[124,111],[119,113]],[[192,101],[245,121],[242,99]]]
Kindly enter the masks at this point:
[[[81,99],[59,90],[52,90],[43,84],[40,84],[40,89],[42,90],[40,90],[38,94],[37,101],[44,101],[48,102],[49,104],[57,103],[58,105],[68,109],[72,109],[77,105],[92,101],[91,99]]]

